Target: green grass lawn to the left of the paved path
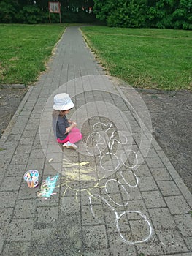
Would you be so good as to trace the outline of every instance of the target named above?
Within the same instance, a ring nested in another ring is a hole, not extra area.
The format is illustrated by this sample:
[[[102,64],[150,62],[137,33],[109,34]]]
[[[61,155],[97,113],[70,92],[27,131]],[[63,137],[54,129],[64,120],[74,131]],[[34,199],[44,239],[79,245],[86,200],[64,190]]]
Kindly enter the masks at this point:
[[[0,84],[37,80],[64,29],[60,24],[0,24]]]

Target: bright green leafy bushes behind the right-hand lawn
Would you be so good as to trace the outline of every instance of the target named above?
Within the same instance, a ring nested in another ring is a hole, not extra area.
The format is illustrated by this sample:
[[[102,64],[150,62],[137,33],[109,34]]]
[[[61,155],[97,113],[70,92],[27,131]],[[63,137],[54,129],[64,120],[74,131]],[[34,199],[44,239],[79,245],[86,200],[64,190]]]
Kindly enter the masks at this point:
[[[94,0],[107,26],[192,29],[192,0]]]

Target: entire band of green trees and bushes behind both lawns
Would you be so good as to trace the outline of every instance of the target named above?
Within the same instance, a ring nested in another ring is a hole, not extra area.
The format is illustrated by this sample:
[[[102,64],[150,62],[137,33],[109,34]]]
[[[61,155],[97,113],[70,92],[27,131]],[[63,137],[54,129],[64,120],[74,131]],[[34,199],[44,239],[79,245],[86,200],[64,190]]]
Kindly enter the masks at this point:
[[[49,23],[49,0],[1,0],[0,23]],[[192,0],[60,0],[63,23],[192,29]],[[97,19],[96,19],[97,18]],[[51,14],[58,23],[59,15]]]

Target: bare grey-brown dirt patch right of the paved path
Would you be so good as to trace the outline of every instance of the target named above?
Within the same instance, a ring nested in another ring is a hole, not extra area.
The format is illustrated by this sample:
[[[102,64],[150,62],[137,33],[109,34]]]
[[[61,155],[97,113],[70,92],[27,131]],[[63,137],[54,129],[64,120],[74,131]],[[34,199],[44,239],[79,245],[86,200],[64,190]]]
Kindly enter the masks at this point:
[[[150,112],[153,137],[192,192],[192,91],[138,92]]]

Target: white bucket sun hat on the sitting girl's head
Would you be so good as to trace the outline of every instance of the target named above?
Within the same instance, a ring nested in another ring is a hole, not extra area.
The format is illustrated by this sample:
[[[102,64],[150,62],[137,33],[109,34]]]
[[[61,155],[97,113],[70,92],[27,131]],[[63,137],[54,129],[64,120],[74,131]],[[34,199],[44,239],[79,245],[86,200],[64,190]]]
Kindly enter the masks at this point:
[[[69,94],[57,94],[54,97],[54,110],[69,110],[71,108],[74,108],[74,104],[72,102],[72,99],[70,99]]]

